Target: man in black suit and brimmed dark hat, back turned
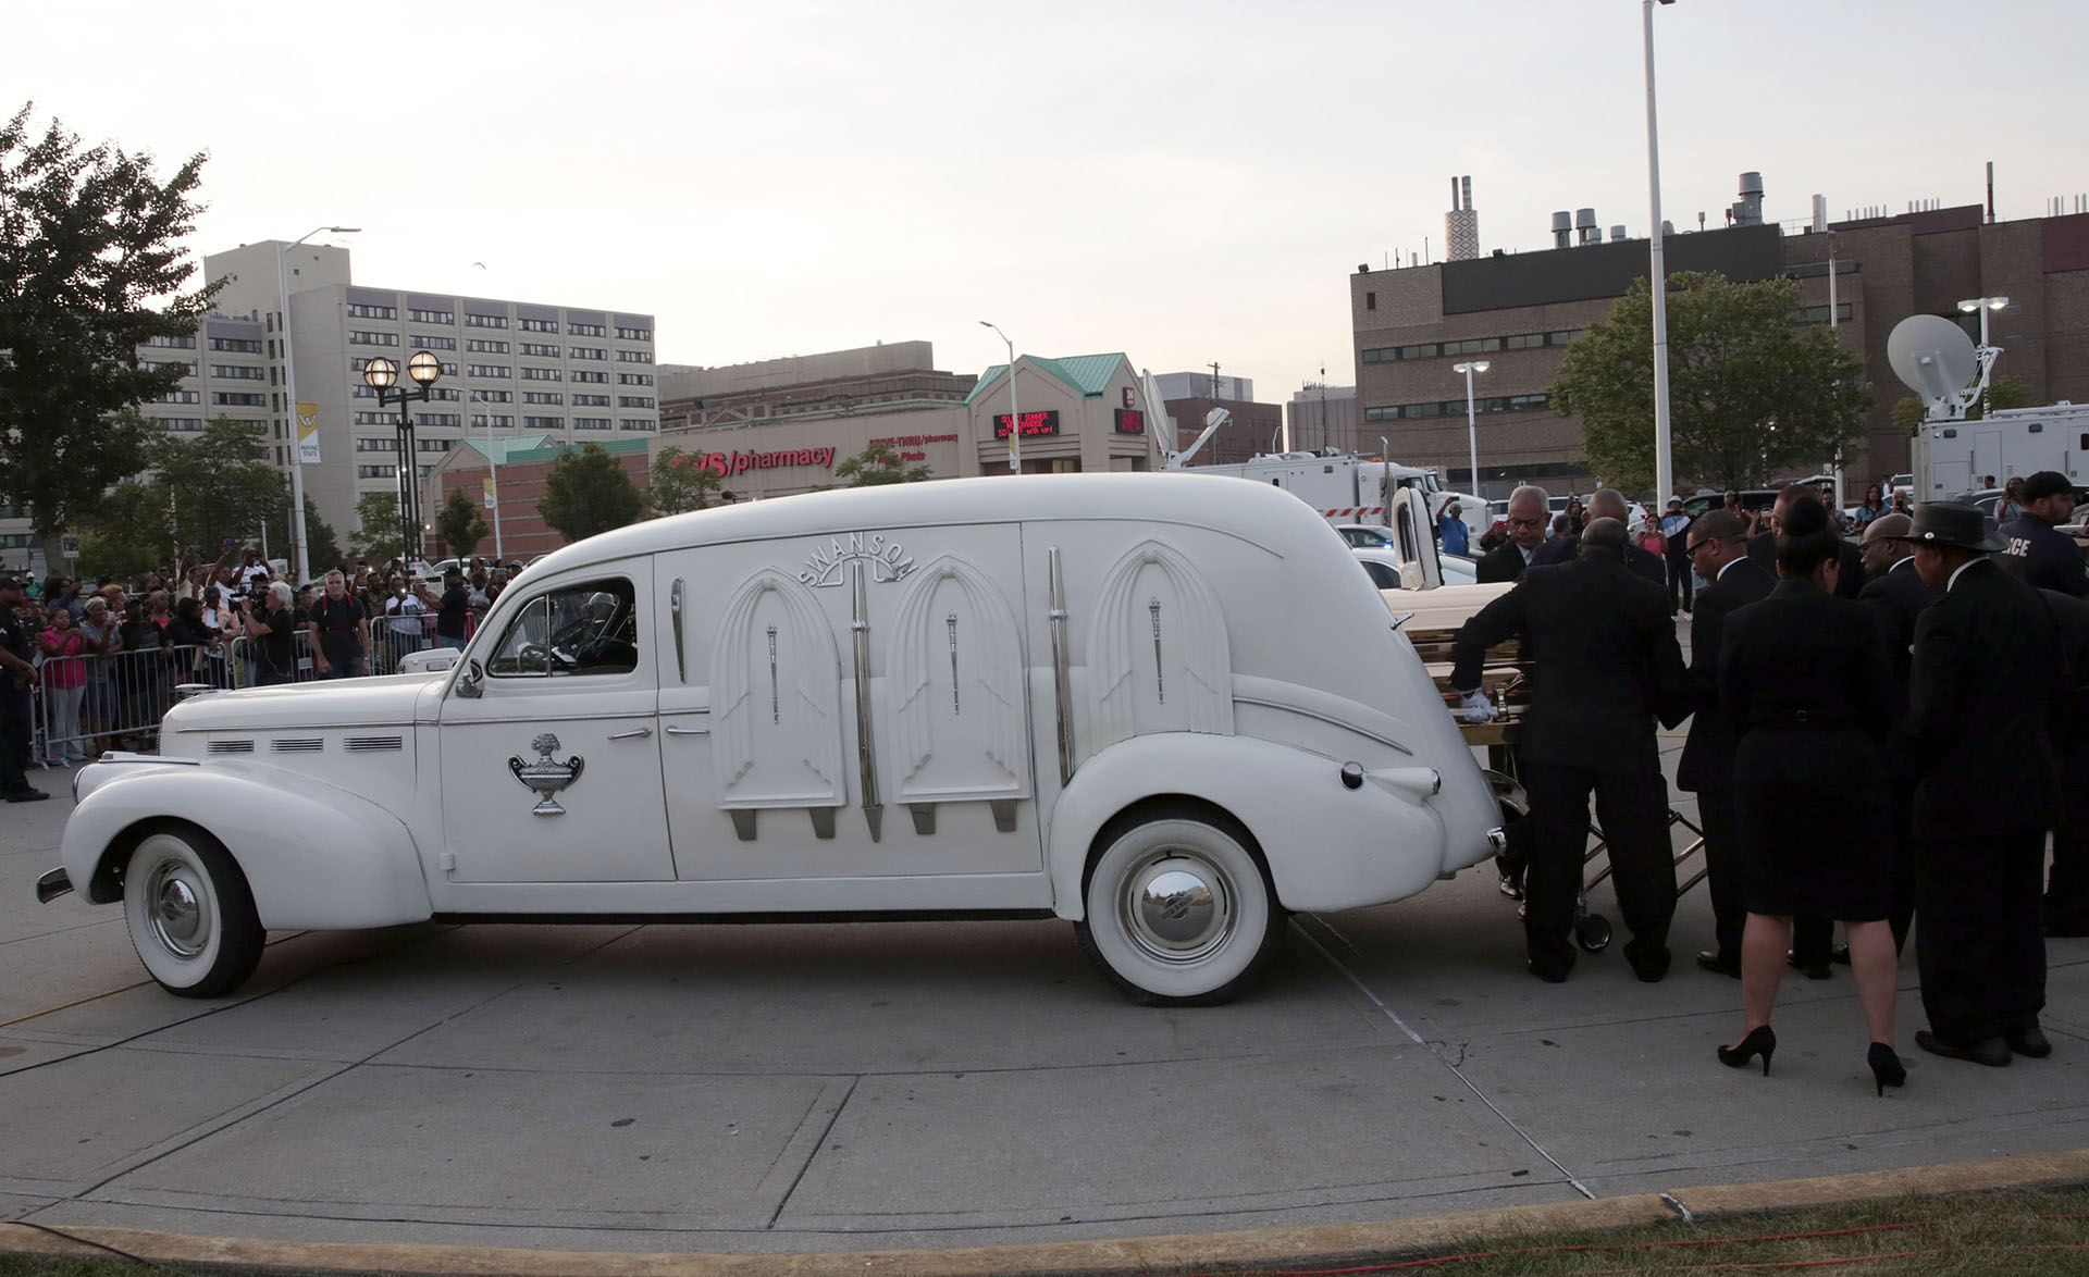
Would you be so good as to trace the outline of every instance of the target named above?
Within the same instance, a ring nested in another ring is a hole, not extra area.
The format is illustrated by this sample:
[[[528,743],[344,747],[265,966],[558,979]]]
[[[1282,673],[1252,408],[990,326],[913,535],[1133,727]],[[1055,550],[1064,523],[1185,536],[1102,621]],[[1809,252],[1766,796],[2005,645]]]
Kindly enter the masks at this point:
[[[1976,506],[1930,502],[1916,571],[1945,596],[1916,619],[1907,736],[1916,767],[1916,961],[1924,1051],[2001,1066],[2041,1058],[2039,882],[2053,826],[2051,734],[2068,688],[2045,598],[1989,554]]]

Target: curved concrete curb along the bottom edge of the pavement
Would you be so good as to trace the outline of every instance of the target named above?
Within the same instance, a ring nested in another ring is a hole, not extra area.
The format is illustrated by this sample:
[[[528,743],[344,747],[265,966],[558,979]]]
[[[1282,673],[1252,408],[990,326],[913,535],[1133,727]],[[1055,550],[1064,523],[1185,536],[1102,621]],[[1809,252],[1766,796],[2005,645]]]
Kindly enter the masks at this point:
[[[1155,1273],[1168,1269],[1249,1269],[1341,1262],[1533,1229],[1613,1229],[1675,1218],[1669,1200],[1692,1216],[1830,1206],[1907,1193],[1968,1193],[2089,1181],[2089,1150],[2026,1154],[1982,1162],[1865,1170],[1820,1179],[1705,1185],[1594,1202],[1546,1202],[1358,1225],[1178,1233],[1109,1241],[982,1246],[961,1250],[861,1250],[821,1254],[671,1254],[595,1250],[514,1250],[493,1246],[403,1246],[355,1241],[269,1241],[194,1237],[140,1229],[65,1229],[0,1225],[0,1252],[92,1256],[96,1246],[167,1264],[236,1264],[311,1273],[418,1273],[430,1277],[1038,1277],[1044,1273]],[[77,1237],[69,1241],[67,1237]]]

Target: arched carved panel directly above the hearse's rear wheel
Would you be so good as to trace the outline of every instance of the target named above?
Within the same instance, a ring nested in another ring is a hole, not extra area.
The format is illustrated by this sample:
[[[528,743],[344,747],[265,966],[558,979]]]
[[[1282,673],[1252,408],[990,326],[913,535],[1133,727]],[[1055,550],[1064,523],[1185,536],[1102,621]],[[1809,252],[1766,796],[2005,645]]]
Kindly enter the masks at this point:
[[[1086,752],[1151,732],[1233,736],[1233,648],[1218,591],[1178,550],[1143,541],[1095,596]]]

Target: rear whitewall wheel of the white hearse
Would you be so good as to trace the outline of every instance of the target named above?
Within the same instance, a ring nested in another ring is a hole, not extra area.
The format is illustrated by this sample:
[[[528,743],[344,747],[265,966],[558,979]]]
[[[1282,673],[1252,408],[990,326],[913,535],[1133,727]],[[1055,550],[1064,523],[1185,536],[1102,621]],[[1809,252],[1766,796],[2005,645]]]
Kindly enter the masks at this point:
[[[1170,807],[1103,832],[1074,934],[1134,1001],[1212,1005],[1255,978],[1285,922],[1247,830]]]

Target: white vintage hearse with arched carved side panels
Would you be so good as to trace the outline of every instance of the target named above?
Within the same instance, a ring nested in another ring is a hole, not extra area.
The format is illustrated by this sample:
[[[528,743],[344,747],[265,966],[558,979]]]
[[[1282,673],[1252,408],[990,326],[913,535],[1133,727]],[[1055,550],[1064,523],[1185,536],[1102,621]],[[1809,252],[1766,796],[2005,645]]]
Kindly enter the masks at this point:
[[[196,696],[73,786],[38,895],[121,901],[190,997],[263,928],[1059,915],[1130,997],[1210,1003],[1287,909],[1414,895],[1500,823],[1343,539],[1184,474],[635,525],[447,671]]]

